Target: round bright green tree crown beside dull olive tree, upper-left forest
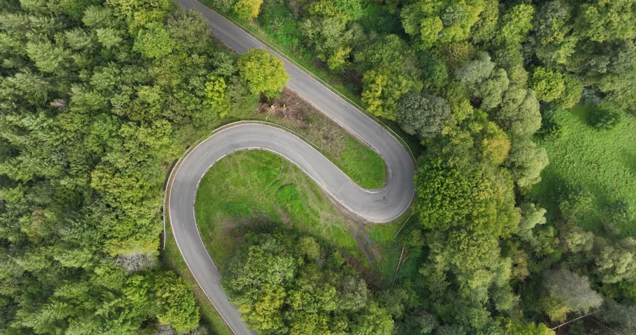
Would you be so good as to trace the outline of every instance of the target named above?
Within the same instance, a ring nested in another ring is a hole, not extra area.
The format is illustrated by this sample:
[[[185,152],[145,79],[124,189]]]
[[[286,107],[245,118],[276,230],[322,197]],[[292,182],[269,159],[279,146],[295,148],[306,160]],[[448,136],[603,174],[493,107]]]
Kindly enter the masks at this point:
[[[173,51],[175,40],[168,35],[163,24],[152,22],[139,30],[133,50],[143,57],[159,59]]]

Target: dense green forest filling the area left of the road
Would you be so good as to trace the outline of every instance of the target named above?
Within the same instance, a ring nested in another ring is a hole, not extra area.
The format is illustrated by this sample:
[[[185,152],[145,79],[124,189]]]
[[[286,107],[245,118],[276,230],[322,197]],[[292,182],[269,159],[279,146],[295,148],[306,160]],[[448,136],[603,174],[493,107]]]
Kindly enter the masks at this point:
[[[168,0],[0,6],[0,333],[205,334],[158,262],[162,188],[206,125],[282,89],[269,56]]]

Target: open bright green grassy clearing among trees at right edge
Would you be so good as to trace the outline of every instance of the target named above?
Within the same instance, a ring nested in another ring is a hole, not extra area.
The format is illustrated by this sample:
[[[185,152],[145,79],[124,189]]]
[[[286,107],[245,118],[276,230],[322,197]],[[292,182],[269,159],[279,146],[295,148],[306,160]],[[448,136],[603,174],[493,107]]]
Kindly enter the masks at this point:
[[[550,164],[542,172],[542,181],[530,194],[550,212],[558,209],[559,189],[565,184],[580,184],[593,193],[593,211],[585,216],[583,228],[600,229],[607,216],[605,208],[616,200],[636,209],[636,118],[627,116],[610,131],[588,125],[592,106],[581,105],[554,116],[563,134],[556,140],[540,140],[548,152]],[[616,223],[621,234],[636,236],[636,223]]]

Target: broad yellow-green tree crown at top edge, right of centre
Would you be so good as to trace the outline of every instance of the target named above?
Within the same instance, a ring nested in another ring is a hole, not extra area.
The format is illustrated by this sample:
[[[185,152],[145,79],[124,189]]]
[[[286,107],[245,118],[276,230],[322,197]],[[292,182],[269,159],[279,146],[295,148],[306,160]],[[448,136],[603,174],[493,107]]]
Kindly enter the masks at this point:
[[[421,0],[403,8],[404,31],[421,50],[466,40],[482,12],[479,0]]]

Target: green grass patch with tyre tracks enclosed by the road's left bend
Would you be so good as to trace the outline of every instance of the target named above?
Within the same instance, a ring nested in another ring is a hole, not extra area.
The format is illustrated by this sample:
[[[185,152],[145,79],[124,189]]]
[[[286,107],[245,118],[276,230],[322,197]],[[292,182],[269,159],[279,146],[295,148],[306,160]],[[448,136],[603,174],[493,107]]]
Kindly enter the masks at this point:
[[[239,151],[212,166],[201,179],[195,213],[221,269],[245,232],[271,224],[319,237],[366,261],[349,234],[355,223],[296,165],[268,151]]]

